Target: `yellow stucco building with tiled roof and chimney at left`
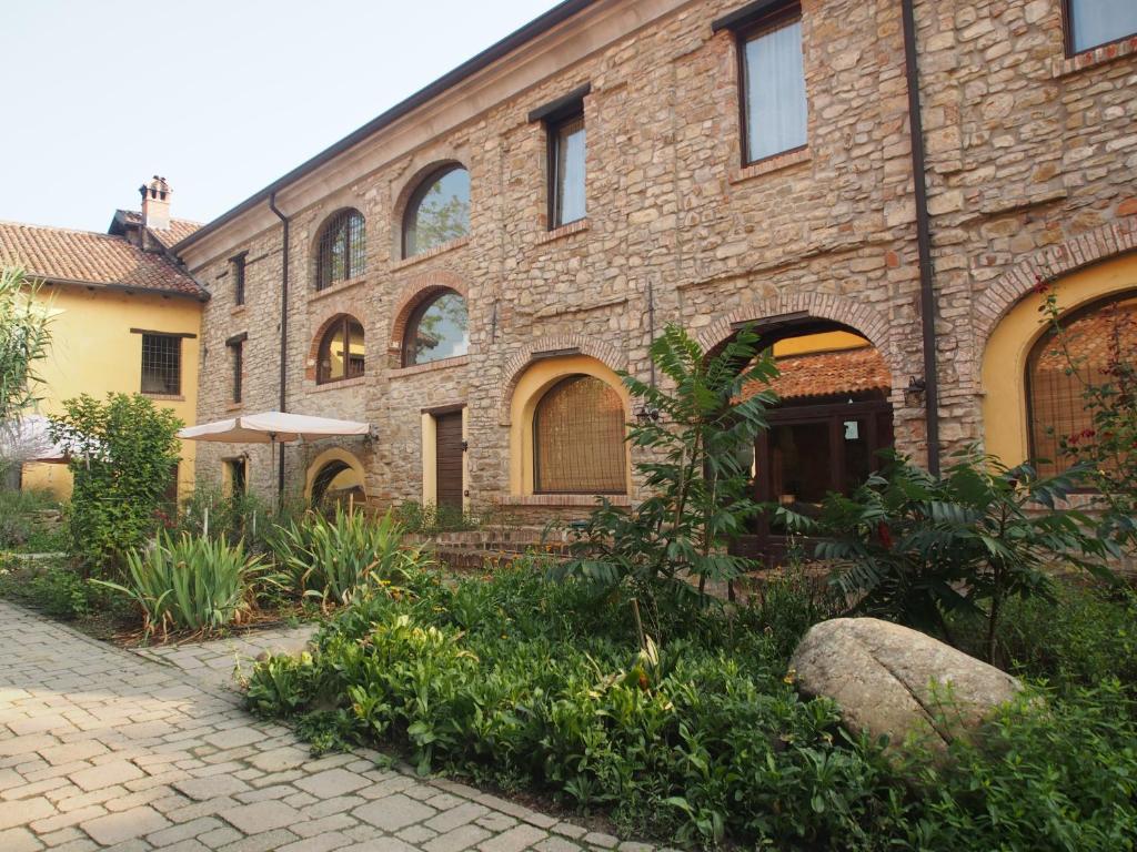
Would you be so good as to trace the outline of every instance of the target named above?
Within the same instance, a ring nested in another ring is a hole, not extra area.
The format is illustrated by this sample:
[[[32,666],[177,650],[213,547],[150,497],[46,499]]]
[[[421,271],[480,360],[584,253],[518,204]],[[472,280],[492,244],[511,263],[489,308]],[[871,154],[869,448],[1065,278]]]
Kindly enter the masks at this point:
[[[40,414],[88,393],[142,393],[196,421],[198,343],[208,293],[168,249],[198,225],[169,217],[164,178],[142,186],[141,212],[117,210],[109,232],[0,223],[0,266],[20,266],[50,301],[51,348],[38,366]],[[193,485],[194,445],[182,444],[177,490]],[[28,462],[24,487],[70,493],[66,466]]]

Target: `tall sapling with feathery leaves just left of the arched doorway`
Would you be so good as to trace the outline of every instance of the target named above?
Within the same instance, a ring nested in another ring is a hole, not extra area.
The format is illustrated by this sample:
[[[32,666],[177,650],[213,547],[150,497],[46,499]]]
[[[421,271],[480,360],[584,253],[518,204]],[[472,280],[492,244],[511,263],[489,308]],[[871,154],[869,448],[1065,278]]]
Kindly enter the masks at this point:
[[[652,344],[666,389],[623,374],[642,412],[628,440],[650,460],[636,467],[650,493],[628,510],[607,500],[592,512],[574,559],[556,569],[605,585],[628,583],[655,612],[656,593],[695,593],[688,577],[731,583],[749,562],[727,552],[760,510],[747,495],[754,441],[766,428],[770,390],[778,370],[758,356],[758,336],[744,328],[721,352],[707,352],[680,326]],[[656,620],[656,628],[658,621]]]

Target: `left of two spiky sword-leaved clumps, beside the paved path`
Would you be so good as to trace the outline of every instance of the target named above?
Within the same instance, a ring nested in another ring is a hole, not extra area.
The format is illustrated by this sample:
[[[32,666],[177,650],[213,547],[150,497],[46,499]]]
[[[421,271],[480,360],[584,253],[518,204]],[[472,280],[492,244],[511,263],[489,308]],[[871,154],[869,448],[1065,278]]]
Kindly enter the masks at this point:
[[[213,630],[248,611],[251,582],[263,568],[241,543],[160,535],[148,553],[126,558],[126,584],[94,580],[133,600],[147,635],[169,629]]]

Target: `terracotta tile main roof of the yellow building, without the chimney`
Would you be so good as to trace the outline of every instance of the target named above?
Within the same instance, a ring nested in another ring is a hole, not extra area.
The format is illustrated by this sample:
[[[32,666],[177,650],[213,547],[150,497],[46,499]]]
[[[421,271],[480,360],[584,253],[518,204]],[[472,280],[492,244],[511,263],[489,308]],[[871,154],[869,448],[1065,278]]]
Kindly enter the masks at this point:
[[[0,265],[19,265],[55,282],[206,298],[206,291],[165,254],[91,231],[0,222]]]

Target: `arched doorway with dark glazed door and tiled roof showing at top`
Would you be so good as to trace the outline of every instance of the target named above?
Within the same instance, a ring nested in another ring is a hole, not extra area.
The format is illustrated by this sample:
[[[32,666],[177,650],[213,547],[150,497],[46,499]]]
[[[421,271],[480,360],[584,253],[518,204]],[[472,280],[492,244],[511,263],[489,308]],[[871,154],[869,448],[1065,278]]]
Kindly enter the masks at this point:
[[[855,329],[830,320],[804,320],[762,334],[779,377],[779,403],[770,428],[754,445],[753,496],[816,516],[829,493],[852,493],[880,468],[894,445],[893,379],[881,352]],[[763,386],[744,389],[756,393]],[[764,512],[737,545],[739,553],[777,561],[788,545],[773,511]]]

